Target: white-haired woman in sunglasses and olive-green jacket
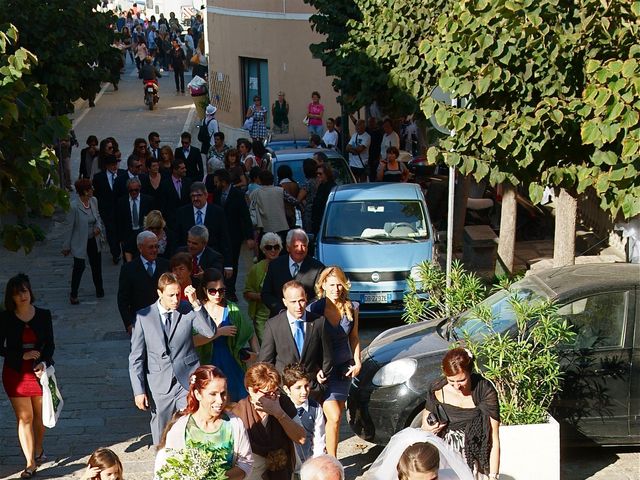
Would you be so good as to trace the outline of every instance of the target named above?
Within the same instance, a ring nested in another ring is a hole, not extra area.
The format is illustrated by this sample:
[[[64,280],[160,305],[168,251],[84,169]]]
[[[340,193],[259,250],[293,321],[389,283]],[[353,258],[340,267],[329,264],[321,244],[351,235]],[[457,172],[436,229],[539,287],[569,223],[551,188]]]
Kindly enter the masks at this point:
[[[264,324],[269,319],[269,307],[262,303],[262,284],[264,277],[267,275],[267,269],[271,260],[278,258],[282,251],[282,239],[280,235],[267,232],[260,240],[260,250],[265,258],[256,263],[249,273],[244,284],[244,298],[249,304],[249,317],[253,321],[253,326],[258,335],[258,339],[262,342],[262,334],[264,332]]]

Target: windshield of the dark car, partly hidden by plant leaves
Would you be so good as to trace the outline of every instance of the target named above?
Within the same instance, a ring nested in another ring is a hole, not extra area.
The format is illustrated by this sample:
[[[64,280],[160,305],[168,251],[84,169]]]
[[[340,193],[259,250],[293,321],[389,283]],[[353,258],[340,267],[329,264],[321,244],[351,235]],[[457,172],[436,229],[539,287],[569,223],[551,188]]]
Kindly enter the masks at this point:
[[[547,295],[537,287],[533,282],[521,280],[512,286],[511,292],[500,290],[487,299],[481,305],[491,309],[493,318],[493,330],[502,333],[516,324],[515,314],[511,307],[511,293],[514,293],[518,299],[527,300],[529,302],[539,303],[547,300]],[[489,327],[474,315],[473,309],[463,313],[454,324],[453,333],[456,338],[462,339],[468,334],[474,340],[480,340],[484,336],[491,333]]]

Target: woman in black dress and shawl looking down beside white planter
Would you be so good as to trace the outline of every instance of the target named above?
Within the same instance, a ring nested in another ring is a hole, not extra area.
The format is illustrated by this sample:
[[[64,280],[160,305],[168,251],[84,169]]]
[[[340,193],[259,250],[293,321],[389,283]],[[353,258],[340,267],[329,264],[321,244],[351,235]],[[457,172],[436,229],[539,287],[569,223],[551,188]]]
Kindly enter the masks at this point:
[[[494,386],[473,373],[473,355],[450,350],[442,360],[444,378],[429,387],[422,428],[440,435],[460,452],[477,479],[497,479],[500,470],[500,406]]]

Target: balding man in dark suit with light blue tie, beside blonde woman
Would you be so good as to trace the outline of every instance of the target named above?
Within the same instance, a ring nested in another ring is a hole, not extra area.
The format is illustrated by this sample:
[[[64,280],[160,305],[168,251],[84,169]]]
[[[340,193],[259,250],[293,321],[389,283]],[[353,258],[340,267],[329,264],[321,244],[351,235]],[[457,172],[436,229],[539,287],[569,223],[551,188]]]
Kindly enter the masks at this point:
[[[305,310],[307,296],[300,282],[288,281],[281,292],[286,310],[265,324],[258,361],[275,365],[281,374],[287,365],[300,363],[317,390],[331,368],[331,346],[323,335],[325,319]]]

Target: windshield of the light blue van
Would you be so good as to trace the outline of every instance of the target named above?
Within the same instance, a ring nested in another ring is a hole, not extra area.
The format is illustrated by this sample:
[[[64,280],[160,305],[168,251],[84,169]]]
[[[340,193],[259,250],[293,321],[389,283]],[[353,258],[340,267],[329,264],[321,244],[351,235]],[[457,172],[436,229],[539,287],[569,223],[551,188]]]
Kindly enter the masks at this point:
[[[410,242],[429,238],[424,208],[417,200],[331,202],[324,225],[323,239],[329,242]]]

